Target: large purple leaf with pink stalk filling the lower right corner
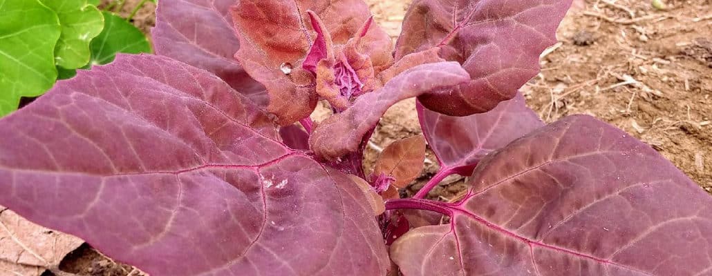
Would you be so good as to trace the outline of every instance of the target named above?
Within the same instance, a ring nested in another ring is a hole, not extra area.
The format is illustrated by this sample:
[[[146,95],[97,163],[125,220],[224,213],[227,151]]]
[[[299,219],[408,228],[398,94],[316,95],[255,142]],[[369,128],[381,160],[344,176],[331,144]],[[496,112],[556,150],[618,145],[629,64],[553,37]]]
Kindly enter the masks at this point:
[[[478,166],[451,225],[392,246],[404,275],[711,275],[712,198],[654,149],[567,117]]]

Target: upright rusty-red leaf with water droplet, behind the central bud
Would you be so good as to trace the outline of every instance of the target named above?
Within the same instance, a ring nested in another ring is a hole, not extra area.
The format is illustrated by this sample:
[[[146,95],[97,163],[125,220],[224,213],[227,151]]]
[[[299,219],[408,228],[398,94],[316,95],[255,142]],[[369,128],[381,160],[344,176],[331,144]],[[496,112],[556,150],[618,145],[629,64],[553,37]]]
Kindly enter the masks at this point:
[[[362,0],[239,0],[231,8],[241,45],[235,57],[252,78],[267,87],[268,110],[282,125],[307,117],[318,101],[313,73],[302,67],[317,33],[310,26],[308,11],[323,20],[335,45],[347,43],[370,18]],[[392,60],[390,40],[375,24],[365,41],[363,48],[374,65]],[[307,61],[307,68],[314,65],[314,60]]]

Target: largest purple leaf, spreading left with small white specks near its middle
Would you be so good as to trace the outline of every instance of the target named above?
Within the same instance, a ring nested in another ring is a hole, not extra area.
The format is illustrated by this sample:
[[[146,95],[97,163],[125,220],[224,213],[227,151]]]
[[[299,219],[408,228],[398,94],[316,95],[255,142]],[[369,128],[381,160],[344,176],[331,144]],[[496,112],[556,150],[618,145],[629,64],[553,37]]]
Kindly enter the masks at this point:
[[[210,73],[119,55],[0,120],[0,204],[151,275],[384,275],[362,191]]]

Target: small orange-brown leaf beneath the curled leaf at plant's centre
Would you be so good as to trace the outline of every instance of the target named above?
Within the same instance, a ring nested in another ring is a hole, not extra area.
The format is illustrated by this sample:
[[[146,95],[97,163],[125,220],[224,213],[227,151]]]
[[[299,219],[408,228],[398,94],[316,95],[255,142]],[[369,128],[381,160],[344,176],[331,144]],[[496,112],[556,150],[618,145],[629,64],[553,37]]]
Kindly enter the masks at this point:
[[[425,159],[425,139],[417,135],[389,144],[378,156],[373,169],[374,175],[386,174],[395,181],[393,186],[404,188],[423,170]]]

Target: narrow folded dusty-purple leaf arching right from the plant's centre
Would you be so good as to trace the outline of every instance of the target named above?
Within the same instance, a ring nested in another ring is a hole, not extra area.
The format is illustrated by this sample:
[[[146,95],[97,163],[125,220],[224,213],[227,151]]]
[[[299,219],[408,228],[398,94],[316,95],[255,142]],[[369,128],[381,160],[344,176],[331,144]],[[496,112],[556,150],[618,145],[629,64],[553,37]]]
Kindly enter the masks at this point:
[[[375,127],[391,105],[468,80],[467,72],[454,62],[429,63],[407,70],[382,89],[358,97],[347,110],[318,124],[309,137],[310,148],[329,161],[356,152],[364,135]]]

